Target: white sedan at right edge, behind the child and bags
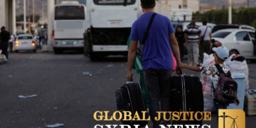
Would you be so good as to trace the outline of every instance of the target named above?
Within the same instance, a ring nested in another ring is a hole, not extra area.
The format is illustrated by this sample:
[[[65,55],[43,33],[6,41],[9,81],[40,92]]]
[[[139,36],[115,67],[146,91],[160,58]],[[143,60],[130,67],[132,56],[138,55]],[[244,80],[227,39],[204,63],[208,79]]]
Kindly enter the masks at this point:
[[[223,29],[213,33],[217,46],[228,48],[230,55],[240,54],[256,62],[255,31],[247,29]]]

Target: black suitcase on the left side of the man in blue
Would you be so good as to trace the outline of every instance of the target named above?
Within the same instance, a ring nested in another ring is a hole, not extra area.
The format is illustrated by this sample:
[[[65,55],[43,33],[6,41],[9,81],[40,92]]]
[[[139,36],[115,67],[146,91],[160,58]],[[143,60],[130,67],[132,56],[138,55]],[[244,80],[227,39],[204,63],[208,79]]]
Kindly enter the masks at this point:
[[[140,85],[136,82],[127,82],[122,87],[118,88],[116,91],[117,100],[117,110],[130,111],[132,112],[132,117],[134,117],[135,112],[138,112],[139,118],[143,119],[142,111],[146,111],[146,105],[142,95],[142,89]],[[123,114],[123,112],[122,112]],[[145,119],[148,119],[148,112],[145,113]],[[122,116],[124,119],[124,116]],[[139,124],[140,127],[146,126],[148,121],[122,121],[122,124],[128,124],[134,127],[134,124]]]

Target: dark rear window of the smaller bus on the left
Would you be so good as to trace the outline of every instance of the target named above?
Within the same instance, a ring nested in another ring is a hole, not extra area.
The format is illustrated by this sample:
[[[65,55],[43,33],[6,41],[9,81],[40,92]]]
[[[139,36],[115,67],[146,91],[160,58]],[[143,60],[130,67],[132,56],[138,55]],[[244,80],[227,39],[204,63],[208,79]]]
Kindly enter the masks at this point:
[[[55,6],[55,20],[85,20],[84,6]]]

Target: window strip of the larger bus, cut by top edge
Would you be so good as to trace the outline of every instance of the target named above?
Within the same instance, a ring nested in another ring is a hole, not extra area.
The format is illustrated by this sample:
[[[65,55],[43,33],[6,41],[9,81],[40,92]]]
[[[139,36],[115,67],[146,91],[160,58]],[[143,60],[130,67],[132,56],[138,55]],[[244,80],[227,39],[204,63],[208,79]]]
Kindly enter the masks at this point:
[[[127,0],[127,5],[135,4],[136,0]],[[96,5],[124,5],[124,0],[93,0]]]

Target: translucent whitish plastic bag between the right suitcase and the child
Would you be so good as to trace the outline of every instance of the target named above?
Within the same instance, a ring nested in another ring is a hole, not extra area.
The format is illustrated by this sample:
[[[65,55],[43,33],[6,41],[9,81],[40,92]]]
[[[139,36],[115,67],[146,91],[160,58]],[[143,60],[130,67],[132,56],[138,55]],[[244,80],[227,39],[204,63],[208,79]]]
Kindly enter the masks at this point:
[[[203,53],[203,67],[206,67],[207,65],[214,64],[214,57],[213,54],[208,55],[207,53]],[[210,96],[210,87],[211,87],[211,80],[209,76],[203,76],[201,73],[200,78],[202,84],[203,84],[203,102],[204,102],[204,108],[203,111],[205,112],[215,112],[213,99],[211,99]]]

